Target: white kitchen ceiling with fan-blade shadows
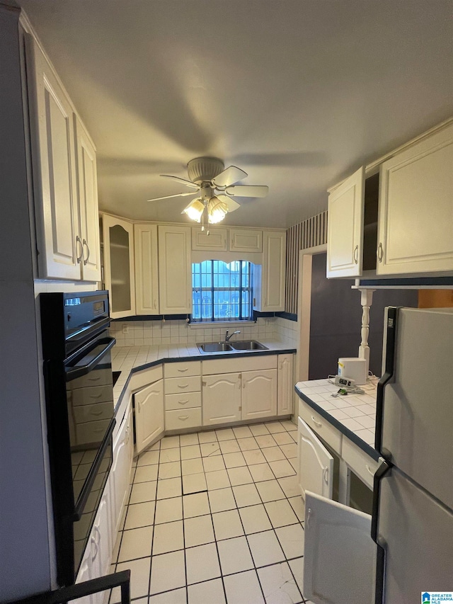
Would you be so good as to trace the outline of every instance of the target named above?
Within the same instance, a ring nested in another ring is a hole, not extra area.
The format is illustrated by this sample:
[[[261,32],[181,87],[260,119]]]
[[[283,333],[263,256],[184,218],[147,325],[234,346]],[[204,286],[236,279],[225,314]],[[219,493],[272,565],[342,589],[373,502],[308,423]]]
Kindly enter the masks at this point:
[[[451,0],[16,0],[98,149],[101,209],[190,222],[196,156],[268,185],[226,224],[289,227],[453,113]]]

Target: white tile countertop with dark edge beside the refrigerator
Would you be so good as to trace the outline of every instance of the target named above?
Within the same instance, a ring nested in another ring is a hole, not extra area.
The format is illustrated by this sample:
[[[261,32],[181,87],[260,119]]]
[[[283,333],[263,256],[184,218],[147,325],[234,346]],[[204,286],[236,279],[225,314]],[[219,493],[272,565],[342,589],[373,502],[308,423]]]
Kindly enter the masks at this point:
[[[378,381],[379,377],[372,377],[365,386],[360,386],[365,394],[338,394],[338,397],[332,397],[338,392],[338,386],[328,380],[297,382],[294,389],[306,404],[377,460],[379,453],[374,449],[374,428]]]

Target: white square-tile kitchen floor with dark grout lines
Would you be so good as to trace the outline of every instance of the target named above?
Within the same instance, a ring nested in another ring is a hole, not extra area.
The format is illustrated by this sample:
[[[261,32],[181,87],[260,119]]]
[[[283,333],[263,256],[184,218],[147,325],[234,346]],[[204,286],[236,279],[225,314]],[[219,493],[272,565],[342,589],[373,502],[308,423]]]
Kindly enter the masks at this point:
[[[308,601],[296,435],[273,421],[168,436],[134,460],[112,565],[131,569],[134,604]]]

